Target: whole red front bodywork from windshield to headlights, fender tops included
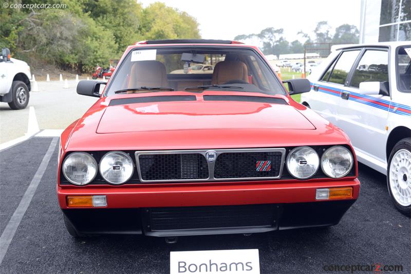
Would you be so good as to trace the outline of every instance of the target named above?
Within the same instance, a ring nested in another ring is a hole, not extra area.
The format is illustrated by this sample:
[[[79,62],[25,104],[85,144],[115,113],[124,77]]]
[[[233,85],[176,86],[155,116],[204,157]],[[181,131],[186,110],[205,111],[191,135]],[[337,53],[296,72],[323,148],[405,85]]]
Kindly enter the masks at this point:
[[[112,104],[115,99],[151,95],[102,97],[63,132],[62,148],[93,151],[349,144],[340,129],[311,109],[280,95],[276,97],[286,104],[204,101],[203,94],[196,94],[196,101]]]

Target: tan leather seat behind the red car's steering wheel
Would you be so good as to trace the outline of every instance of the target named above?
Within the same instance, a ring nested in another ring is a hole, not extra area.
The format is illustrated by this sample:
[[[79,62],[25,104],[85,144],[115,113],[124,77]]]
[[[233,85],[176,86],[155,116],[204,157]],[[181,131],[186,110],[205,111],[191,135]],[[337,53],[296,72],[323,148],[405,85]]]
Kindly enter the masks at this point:
[[[248,69],[241,61],[221,61],[214,67],[212,85],[220,85],[232,80],[242,80],[248,83]]]

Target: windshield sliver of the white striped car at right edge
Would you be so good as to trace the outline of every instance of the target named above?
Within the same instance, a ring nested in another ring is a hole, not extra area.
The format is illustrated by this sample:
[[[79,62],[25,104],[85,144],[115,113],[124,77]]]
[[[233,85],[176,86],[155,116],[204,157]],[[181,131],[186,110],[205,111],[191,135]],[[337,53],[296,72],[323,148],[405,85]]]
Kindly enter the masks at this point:
[[[397,79],[400,91],[411,92],[411,46],[398,49]]]

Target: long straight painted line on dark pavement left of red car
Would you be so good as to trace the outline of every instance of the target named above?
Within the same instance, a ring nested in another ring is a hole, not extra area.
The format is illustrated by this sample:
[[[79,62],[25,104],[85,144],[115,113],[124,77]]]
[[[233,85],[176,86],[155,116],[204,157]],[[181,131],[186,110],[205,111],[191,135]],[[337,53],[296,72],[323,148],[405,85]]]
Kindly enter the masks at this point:
[[[2,236],[0,237],[0,265],[3,262],[4,256],[6,255],[11,240],[13,240],[18,225],[20,225],[20,222],[22,221],[23,216],[30,205],[31,199],[33,199],[34,193],[37,187],[39,186],[40,180],[42,179],[43,174],[46,171],[46,168],[48,166],[51,156],[53,155],[58,140],[58,138],[53,138],[51,140],[50,146],[48,147],[48,150],[44,155],[39,168],[35,172],[34,177],[30,182],[30,185],[27,187],[27,190],[24,193],[22,200],[20,201],[20,204],[18,204],[16,210],[13,213],[13,216],[10,218],[6,228],[2,233]]]

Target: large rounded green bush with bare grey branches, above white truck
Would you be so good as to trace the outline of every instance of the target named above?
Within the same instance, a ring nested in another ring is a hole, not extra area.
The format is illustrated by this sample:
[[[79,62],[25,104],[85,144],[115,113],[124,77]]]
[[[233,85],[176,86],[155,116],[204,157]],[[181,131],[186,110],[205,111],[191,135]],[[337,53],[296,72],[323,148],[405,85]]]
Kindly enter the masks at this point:
[[[80,17],[65,9],[18,14],[22,19],[15,22],[5,41],[15,38],[12,43],[4,43],[13,46],[17,56],[38,56],[63,69],[82,72],[96,63],[108,64],[116,54],[113,34],[86,15]]]

